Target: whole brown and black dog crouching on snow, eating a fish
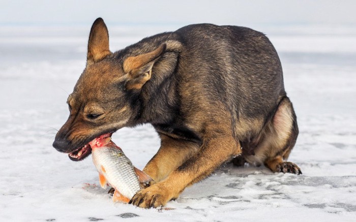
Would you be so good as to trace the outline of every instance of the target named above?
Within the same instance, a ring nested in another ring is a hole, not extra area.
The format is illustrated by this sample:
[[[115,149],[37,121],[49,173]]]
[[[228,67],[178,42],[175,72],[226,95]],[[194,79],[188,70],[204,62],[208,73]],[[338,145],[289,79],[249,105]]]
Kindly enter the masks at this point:
[[[285,162],[298,125],[279,57],[250,28],[188,25],[112,53],[98,18],[68,105],[53,147],[73,161],[88,156],[88,142],[102,134],[154,126],[161,147],[143,169],[153,183],[131,200],[139,207],[166,204],[234,157],[234,163],[301,174]]]

